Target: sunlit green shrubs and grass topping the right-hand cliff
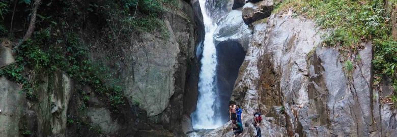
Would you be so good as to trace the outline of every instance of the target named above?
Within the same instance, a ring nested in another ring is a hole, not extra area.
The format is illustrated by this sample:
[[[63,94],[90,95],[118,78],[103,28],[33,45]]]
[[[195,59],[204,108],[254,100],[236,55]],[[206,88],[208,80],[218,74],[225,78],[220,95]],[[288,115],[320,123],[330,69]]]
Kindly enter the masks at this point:
[[[295,8],[296,12],[314,18],[321,27],[334,29],[325,41],[327,46],[356,48],[362,39],[380,37],[389,31],[383,6],[381,0],[299,0],[283,2],[278,9]]]

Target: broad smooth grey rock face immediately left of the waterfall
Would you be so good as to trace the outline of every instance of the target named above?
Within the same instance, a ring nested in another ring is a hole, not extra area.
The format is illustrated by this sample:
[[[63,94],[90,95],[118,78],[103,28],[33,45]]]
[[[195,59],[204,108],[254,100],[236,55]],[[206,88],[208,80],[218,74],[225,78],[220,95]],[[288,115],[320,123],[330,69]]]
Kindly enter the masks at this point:
[[[143,32],[130,36],[134,41],[120,45],[121,50],[99,46],[91,51],[93,59],[111,66],[121,79],[131,104],[139,102],[151,120],[178,133],[182,116],[195,109],[200,66],[196,46],[204,38],[202,17],[195,14],[200,11],[193,11],[200,9],[198,1],[191,3],[179,1],[186,16],[163,14],[169,38]],[[121,58],[106,59],[113,54]]]

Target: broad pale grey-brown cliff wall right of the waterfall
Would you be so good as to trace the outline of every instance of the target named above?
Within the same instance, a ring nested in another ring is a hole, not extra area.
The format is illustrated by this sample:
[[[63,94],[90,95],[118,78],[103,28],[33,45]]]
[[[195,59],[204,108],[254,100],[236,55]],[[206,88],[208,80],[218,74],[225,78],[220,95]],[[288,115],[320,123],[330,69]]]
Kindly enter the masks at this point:
[[[251,115],[256,108],[264,114],[263,136],[395,136],[395,110],[380,102],[393,89],[387,81],[373,86],[371,42],[349,54],[348,59],[360,60],[348,72],[342,59],[347,53],[321,45],[326,31],[292,14],[274,13],[252,22],[253,35],[231,97],[245,110],[243,136],[256,134]],[[203,136],[229,136],[231,128],[228,122]]]

